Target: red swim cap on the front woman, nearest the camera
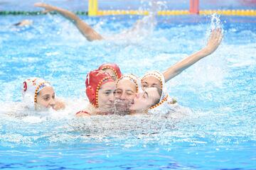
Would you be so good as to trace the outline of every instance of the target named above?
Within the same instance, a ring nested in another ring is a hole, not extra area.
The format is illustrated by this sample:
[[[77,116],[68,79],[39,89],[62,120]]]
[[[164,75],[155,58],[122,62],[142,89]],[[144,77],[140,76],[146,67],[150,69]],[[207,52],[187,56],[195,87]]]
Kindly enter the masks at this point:
[[[100,86],[103,84],[106,84],[107,82],[114,82],[110,74],[107,74],[105,72],[102,72],[102,70],[93,70],[87,74],[86,80],[85,80],[85,86],[86,86],[86,95],[92,103],[93,106],[96,108],[98,106],[98,92],[100,89]]]

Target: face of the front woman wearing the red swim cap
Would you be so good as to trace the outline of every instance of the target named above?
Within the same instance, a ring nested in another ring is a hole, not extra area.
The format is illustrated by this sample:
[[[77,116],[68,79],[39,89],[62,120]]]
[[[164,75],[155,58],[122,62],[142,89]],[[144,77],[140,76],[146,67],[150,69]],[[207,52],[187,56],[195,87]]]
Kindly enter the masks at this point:
[[[100,110],[109,111],[113,108],[115,87],[114,82],[107,82],[100,86],[98,93],[98,105]]]

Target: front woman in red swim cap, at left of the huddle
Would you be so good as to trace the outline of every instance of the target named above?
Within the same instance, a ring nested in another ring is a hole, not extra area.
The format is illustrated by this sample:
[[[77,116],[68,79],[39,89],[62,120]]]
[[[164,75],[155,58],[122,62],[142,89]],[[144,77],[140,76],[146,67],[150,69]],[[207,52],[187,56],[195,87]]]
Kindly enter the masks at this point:
[[[90,105],[76,116],[112,114],[116,85],[110,74],[101,70],[91,71],[87,74],[85,86]]]

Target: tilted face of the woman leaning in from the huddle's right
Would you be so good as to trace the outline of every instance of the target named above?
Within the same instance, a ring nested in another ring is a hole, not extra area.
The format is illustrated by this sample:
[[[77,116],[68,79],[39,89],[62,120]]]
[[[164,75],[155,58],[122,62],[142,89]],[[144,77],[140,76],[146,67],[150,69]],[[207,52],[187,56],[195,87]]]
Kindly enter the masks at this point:
[[[149,87],[144,92],[138,93],[134,98],[132,106],[129,108],[131,111],[145,111],[150,108],[156,101],[159,101],[160,95],[155,87]]]

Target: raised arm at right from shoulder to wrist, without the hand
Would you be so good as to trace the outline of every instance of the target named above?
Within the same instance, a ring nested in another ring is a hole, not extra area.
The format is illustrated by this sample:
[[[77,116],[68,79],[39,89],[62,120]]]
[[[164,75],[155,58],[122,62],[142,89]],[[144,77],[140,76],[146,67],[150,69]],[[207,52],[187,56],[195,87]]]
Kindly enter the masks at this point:
[[[208,55],[207,49],[203,48],[202,50],[193,53],[193,55],[190,55],[186,57],[185,59],[181,60],[180,62],[177,62],[173,66],[169,67],[169,69],[166,69],[164,71],[164,79],[165,81],[169,81],[170,79],[176,77],[178,74],[183,72],[184,69],[187,69],[188,67],[191,67],[191,65],[195,64],[199,60],[201,60],[203,57],[206,57]]]

